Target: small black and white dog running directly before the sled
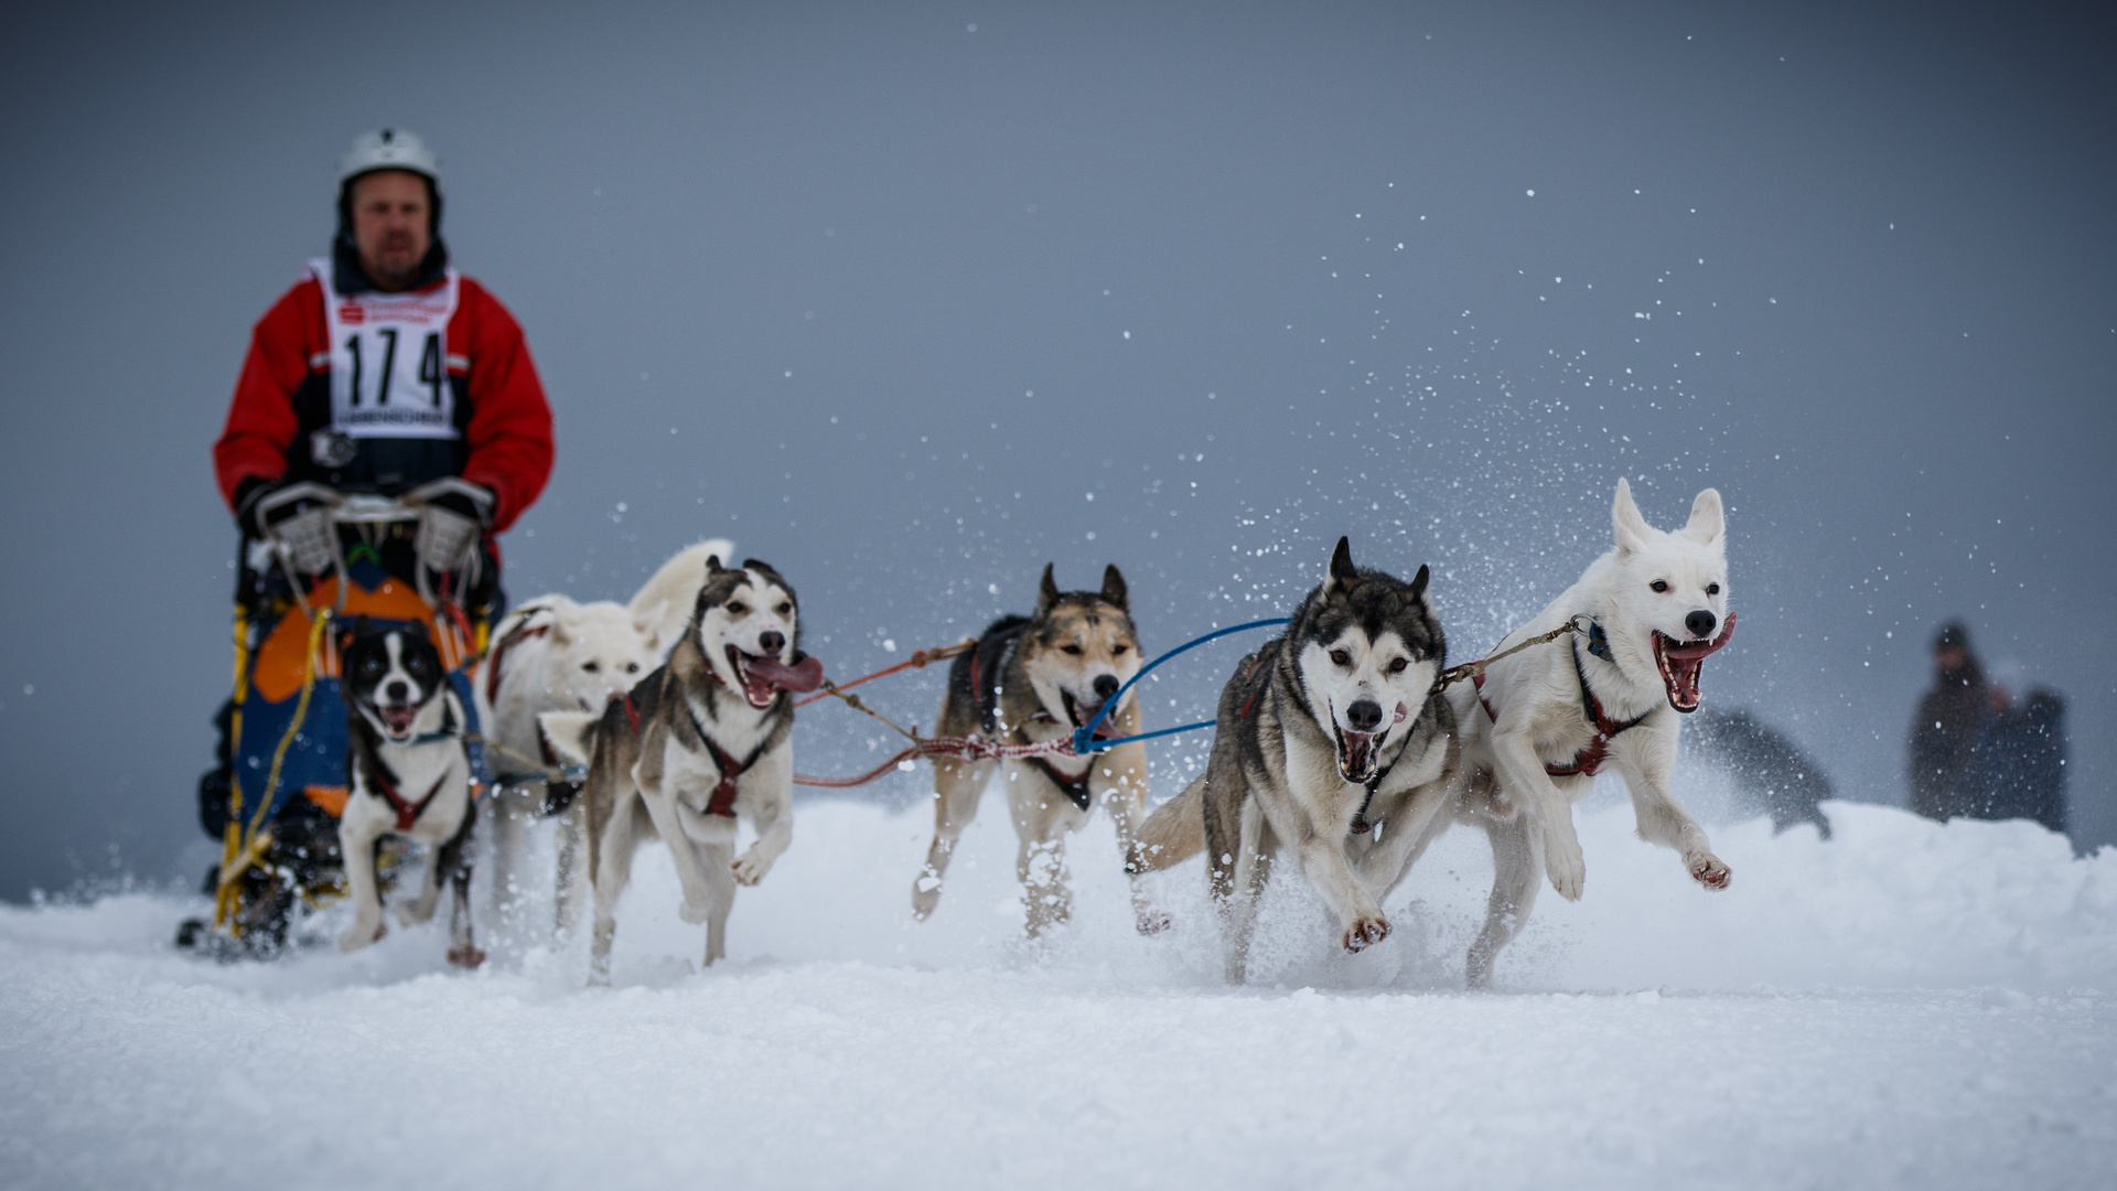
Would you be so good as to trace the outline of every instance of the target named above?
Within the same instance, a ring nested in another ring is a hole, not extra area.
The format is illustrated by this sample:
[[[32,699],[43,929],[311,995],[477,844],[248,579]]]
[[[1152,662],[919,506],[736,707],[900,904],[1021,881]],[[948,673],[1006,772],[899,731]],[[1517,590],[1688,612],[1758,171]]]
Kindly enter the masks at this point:
[[[385,835],[434,848],[419,901],[400,907],[404,924],[428,922],[440,901],[440,877],[455,892],[449,918],[449,962],[474,968],[485,960],[470,935],[470,754],[464,748],[464,706],[449,687],[440,651],[426,629],[370,625],[366,617],[339,638],[339,689],[345,695],[345,814],[339,848],[354,924],[339,935],[341,952],[383,937],[383,899],[375,854]]]

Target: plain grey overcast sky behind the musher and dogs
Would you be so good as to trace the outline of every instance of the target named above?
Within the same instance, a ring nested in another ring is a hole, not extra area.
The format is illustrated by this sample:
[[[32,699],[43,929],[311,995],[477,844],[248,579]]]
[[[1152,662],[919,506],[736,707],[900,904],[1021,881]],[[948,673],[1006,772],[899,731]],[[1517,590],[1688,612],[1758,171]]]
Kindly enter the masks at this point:
[[[1899,801],[1960,615],[2070,697],[2075,816],[2117,839],[2111,23],[1605,8],[11,11],[0,896],[203,869],[207,447],[383,123],[438,146],[559,417],[517,598],[730,534],[857,674],[1046,559],[1120,564],[1162,648],[1351,534],[1435,566],[1463,659],[1605,549],[1617,475],[1662,526],[1711,483],[1742,632],[1708,699]],[[1150,716],[1209,714],[1238,648]],[[870,735],[804,714],[798,767]]]

